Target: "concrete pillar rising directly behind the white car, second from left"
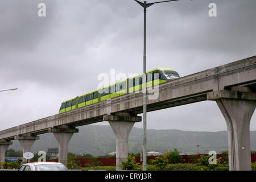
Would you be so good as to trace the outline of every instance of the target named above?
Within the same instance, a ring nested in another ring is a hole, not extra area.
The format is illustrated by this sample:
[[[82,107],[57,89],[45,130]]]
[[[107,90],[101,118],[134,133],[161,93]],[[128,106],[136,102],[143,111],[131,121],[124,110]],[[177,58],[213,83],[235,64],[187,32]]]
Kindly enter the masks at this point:
[[[35,143],[35,140],[38,140],[39,137],[33,135],[18,135],[15,139],[19,140],[20,145],[22,146],[23,154],[30,152],[32,145]],[[30,160],[28,160],[29,162]],[[27,159],[23,158],[22,162],[27,162]]]

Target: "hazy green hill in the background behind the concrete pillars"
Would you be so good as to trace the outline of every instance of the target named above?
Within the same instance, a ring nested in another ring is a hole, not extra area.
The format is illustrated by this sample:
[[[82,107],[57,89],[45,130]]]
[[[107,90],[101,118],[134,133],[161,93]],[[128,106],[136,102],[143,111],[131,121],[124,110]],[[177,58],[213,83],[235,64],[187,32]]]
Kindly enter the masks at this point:
[[[52,133],[39,135],[31,148],[32,152],[58,146]],[[256,131],[250,132],[251,150],[256,150]],[[129,135],[129,152],[142,152],[143,130],[133,127]],[[147,151],[167,152],[177,148],[180,152],[196,152],[196,145],[200,145],[200,153],[214,150],[217,153],[228,150],[227,131],[202,132],[181,130],[147,130]],[[9,148],[22,150],[18,140],[13,141]],[[75,154],[106,155],[115,151],[115,135],[110,126],[87,125],[79,127],[68,146],[69,152]]]

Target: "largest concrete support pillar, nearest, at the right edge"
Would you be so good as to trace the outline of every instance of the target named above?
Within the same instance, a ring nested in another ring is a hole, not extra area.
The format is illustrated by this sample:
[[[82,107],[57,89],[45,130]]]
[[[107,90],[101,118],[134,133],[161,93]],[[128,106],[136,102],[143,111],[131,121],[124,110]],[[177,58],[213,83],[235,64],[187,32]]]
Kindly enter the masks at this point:
[[[255,93],[220,90],[214,93],[228,129],[229,170],[251,171],[250,119]]]

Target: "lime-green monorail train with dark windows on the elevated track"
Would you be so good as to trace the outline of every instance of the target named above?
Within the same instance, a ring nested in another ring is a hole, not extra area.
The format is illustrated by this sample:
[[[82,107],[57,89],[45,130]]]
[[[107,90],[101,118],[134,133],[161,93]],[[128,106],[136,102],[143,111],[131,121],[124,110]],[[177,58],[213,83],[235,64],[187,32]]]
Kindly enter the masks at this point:
[[[180,77],[174,69],[169,68],[152,69],[151,71],[148,71],[146,75],[147,88]],[[104,88],[82,94],[81,96],[71,98],[61,103],[59,113],[64,113],[69,110],[84,107],[90,104],[107,100],[109,98],[118,97],[123,94],[133,93],[137,90],[141,90],[143,89],[142,78],[143,73],[131,78],[127,78],[126,80],[116,82],[113,85],[109,85]]]

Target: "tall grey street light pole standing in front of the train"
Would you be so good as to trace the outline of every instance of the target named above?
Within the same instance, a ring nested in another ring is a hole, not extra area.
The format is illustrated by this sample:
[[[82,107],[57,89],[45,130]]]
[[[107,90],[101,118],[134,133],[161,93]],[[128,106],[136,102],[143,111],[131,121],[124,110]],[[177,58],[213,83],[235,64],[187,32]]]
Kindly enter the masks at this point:
[[[147,148],[147,92],[146,92],[146,13],[147,13],[147,7],[150,7],[154,5],[155,3],[162,3],[162,2],[170,2],[170,1],[179,1],[179,0],[170,0],[170,1],[160,1],[160,2],[153,2],[153,3],[147,3],[146,1],[139,2],[137,0],[134,0],[139,5],[143,7],[144,10],[144,49],[143,49],[143,171],[147,170],[147,154],[146,154],[146,148]]]

